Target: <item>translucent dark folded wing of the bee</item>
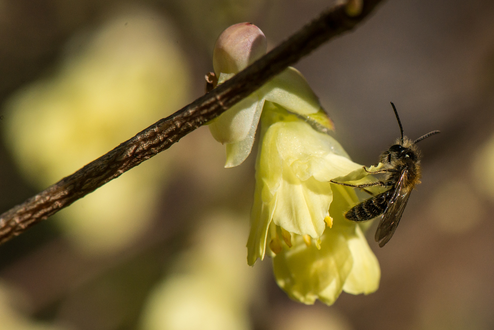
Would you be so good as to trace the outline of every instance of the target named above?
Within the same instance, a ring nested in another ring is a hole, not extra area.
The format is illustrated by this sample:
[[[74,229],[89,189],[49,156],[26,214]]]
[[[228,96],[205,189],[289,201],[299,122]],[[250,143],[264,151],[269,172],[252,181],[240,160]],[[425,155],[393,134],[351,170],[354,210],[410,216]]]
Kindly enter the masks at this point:
[[[407,171],[404,170],[395,186],[395,192],[393,193],[393,196],[391,196],[391,199],[381,216],[379,226],[377,226],[374,238],[376,242],[379,242],[380,247],[383,247],[395,233],[396,227],[405,210],[405,206],[407,206],[408,198],[410,197],[410,192],[412,190],[404,189],[406,175]]]

